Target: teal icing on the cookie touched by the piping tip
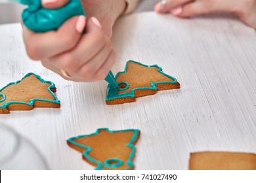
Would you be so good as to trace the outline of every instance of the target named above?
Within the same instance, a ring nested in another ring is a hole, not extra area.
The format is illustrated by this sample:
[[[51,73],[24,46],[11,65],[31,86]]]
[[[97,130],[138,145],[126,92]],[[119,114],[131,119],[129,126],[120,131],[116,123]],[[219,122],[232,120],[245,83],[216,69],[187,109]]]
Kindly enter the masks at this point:
[[[144,89],[158,90],[158,88],[156,87],[156,84],[175,84],[175,83],[177,83],[177,79],[176,78],[174,78],[173,76],[170,76],[170,75],[167,75],[167,74],[163,73],[161,71],[161,67],[159,67],[158,65],[144,65],[144,64],[142,64],[142,63],[140,63],[138,61],[133,61],[133,60],[127,61],[126,65],[125,65],[125,71],[117,73],[116,78],[119,76],[119,74],[127,72],[127,67],[128,67],[129,62],[138,63],[139,65],[142,65],[144,67],[157,67],[158,68],[158,72],[160,72],[162,75],[165,75],[165,76],[171,78],[172,81],[150,82],[151,86],[134,88],[133,90],[131,90],[131,92],[119,93],[119,94],[117,92],[118,91],[123,91],[123,89],[114,88],[110,84],[108,84],[107,94],[106,94],[106,101],[110,101],[112,99],[124,98],[124,97],[135,97],[135,90],[144,90]],[[120,83],[125,83],[129,87],[129,83],[127,83],[125,81],[119,82],[119,84]],[[125,90],[126,89],[127,89],[127,87],[125,87]]]

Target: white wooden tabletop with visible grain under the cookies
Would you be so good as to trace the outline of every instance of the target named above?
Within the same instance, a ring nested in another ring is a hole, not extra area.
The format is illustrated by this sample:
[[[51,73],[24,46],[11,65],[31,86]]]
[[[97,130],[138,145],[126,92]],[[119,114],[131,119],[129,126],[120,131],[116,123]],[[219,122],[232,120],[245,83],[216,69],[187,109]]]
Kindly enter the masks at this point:
[[[51,169],[94,169],[70,148],[70,137],[97,128],[141,130],[136,169],[188,169],[190,152],[256,152],[256,33],[229,15],[181,20],[154,12],[114,27],[117,61],[153,65],[181,83],[136,103],[105,105],[106,82],[66,81],[31,61],[19,24],[0,26],[0,86],[34,72],[52,80],[62,107],[11,111],[0,122],[30,139]]]

